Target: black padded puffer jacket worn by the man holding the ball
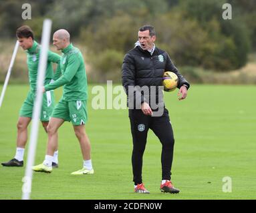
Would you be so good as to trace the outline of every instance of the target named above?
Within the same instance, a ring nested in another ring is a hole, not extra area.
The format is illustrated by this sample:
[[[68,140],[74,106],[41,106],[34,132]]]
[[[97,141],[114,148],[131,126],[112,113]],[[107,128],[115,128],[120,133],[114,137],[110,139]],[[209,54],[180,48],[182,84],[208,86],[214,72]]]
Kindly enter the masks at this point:
[[[156,100],[158,100],[158,86],[162,86],[164,71],[172,71],[178,76],[178,88],[182,85],[190,87],[188,81],[180,75],[165,51],[156,47],[154,53],[150,55],[148,51],[142,50],[139,46],[128,51],[124,56],[122,65],[122,85],[126,90],[126,94],[128,95],[129,86],[156,86]],[[134,93],[134,101],[138,99],[135,96]],[[142,93],[139,104],[141,105],[144,101],[150,104],[149,100],[150,93],[148,95]],[[138,103],[136,104],[138,105]]]

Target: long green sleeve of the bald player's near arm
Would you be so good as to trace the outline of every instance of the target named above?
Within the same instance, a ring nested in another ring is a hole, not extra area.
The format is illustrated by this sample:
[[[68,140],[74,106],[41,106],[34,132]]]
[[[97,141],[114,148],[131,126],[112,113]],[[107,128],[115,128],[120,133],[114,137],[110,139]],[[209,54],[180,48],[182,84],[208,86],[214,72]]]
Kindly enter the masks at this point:
[[[68,65],[66,67],[65,73],[59,77],[55,82],[45,85],[45,91],[51,91],[53,89],[57,89],[58,87],[61,87],[63,85],[66,85],[67,83],[70,83],[72,81],[73,77],[76,75],[76,72],[78,71],[78,68],[80,67],[80,61],[76,54],[73,54],[68,59]]]

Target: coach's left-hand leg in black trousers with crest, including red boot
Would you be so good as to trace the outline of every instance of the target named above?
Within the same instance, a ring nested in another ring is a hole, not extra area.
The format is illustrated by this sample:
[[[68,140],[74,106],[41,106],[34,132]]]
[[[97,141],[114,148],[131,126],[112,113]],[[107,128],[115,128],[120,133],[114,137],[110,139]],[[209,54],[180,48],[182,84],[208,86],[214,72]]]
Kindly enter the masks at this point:
[[[130,126],[132,132],[132,172],[134,192],[149,193],[142,183],[142,162],[148,135],[150,116],[143,114],[142,110],[129,110]]]

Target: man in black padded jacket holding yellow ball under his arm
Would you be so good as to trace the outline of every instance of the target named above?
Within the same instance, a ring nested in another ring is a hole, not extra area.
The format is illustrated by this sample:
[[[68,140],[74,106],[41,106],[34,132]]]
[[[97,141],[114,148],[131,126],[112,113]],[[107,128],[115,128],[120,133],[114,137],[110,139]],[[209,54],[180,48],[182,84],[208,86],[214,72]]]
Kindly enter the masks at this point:
[[[132,172],[134,192],[149,193],[142,182],[142,157],[150,128],[162,144],[162,192],[178,193],[170,181],[174,136],[168,110],[162,99],[164,71],[178,76],[178,99],[186,99],[189,83],[173,65],[168,53],[154,45],[154,27],[145,25],[138,31],[136,47],[128,51],[122,65],[122,85],[128,95],[130,126],[133,140]],[[148,89],[147,89],[148,88]],[[160,113],[159,113],[160,112]]]

